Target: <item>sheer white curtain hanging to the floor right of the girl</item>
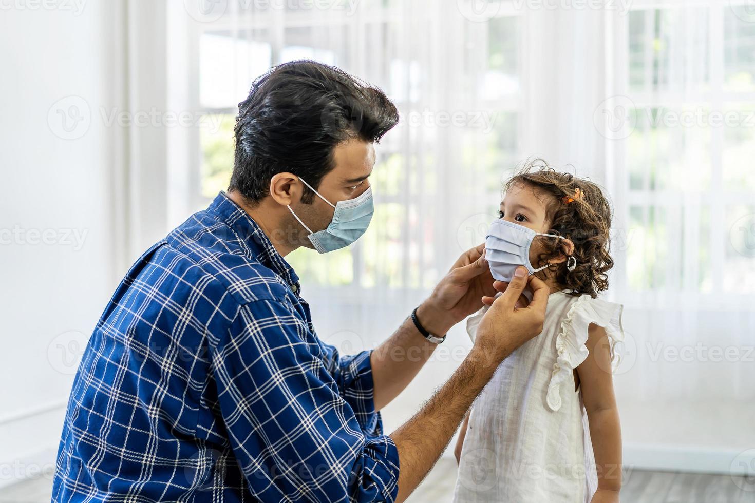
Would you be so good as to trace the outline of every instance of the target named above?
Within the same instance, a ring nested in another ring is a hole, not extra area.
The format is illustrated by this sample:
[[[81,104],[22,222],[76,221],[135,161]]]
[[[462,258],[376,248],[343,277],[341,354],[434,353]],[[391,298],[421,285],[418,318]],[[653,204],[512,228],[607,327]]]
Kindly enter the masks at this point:
[[[625,437],[654,446],[638,454],[651,464],[728,471],[755,446],[755,17],[737,2],[636,2],[609,26],[595,110],[621,232]]]

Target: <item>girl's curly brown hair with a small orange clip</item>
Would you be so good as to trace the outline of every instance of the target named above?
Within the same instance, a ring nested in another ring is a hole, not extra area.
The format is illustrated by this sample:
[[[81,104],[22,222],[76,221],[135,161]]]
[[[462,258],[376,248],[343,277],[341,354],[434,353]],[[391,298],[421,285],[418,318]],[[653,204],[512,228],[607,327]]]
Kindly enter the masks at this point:
[[[570,173],[559,173],[548,167],[542,159],[527,162],[504,187],[529,186],[546,198],[548,234],[563,236],[574,243],[572,256],[577,260],[569,271],[569,260],[549,265],[560,287],[571,290],[572,295],[590,294],[595,298],[609,287],[608,272],[614,265],[609,255],[611,207],[599,186]],[[577,196],[577,197],[575,197]],[[572,199],[571,202],[569,198]],[[562,239],[541,238],[544,253],[538,256],[538,265],[559,255],[569,256]],[[534,265],[534,264],[533,264]],[[544,279],[544,271],[536,273]],[[541,276],[542,275],[542,276]]]

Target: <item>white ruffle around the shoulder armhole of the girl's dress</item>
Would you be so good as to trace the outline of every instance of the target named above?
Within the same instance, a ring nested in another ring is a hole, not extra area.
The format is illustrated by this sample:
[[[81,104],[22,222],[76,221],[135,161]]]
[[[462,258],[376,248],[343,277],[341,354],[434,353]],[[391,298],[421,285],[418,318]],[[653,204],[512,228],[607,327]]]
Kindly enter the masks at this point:
[[[561,384],[572,381],[572,373],[590,354],[587,351],[587,329],[596,324],[606,330],[611,345],[612,371],[616,370],[621,357],[616,354],[615,346],[624,341],[624,329],[621,327],[623,306],[605,300],[593,299],[585,294],[579,296],[569,308],[561,321],[561,328],[556,336],[556,363],[550,376],[546,403],[554,412],[561,408]],[[479,324],[479,321],[477,321]],[[469,323],[467,322],[467,327]]]

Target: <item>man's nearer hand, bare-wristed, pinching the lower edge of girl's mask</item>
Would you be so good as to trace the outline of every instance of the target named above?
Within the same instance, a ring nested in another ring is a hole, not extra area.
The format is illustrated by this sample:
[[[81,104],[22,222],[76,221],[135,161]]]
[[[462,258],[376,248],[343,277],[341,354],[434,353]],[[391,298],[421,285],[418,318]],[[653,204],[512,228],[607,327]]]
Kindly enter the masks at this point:
[[[528,283],[533,293],[532,302],[525,308],[518,308],[516,301]],[[477,327],[475,348],[484,351],[485,355],[495,356],[498,364],[514,349],[543,331],[549,290],[544,281],[535,276],[528,280],[527,270],[523,267],[516,269],[508,286],[496,281],[495,287],[503,290],[503,294],[495,299],[482,298],[490,308]]]

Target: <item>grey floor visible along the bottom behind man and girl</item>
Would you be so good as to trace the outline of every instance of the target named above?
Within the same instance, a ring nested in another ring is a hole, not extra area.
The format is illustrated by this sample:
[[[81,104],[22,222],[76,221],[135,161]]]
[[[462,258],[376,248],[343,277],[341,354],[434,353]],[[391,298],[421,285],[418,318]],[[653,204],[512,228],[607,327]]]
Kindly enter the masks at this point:
[[[456,483],[456,462],[443,458],[433,468],[409,503],[451,501]],[[51,477],[0,489],[0,503],[48,503]],[[623,503],[755,503],[755,480],[728,475],[676,474],[630,471],[621,489]],[[540,503],[540,502],[538,502]],[[550,502],[549,502],[550,503]]]

